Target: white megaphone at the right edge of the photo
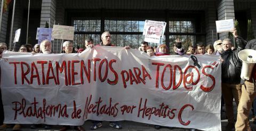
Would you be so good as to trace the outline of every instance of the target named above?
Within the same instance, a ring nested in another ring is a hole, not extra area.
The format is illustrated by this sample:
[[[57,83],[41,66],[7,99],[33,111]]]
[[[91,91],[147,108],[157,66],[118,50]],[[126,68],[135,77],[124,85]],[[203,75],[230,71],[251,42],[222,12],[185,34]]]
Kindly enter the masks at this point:
[[[239,51],[238,58],[243,61],[241,78],[243,80],[250,80],[252,69],[256,63],[256,50],[244,49]]]

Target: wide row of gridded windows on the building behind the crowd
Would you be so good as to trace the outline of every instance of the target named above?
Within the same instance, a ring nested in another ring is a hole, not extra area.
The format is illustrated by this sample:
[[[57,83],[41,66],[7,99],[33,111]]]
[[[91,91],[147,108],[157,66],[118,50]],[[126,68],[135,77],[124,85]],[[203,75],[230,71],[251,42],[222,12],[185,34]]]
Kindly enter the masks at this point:
[[[134,20],[104,20],[104,30],[111,33],[111,43],[115,46],[130,46],[138,48],[145,36],[142,35],[145,21]],[[74,20],[75,44],[84,48],[84,40],[91,37],[95,44],[100,43],[101,20]],[[162,43],[169,42],[170,53],[173,53],[173,43],[180,38],[183,48],[194,45],[195,26],[192,21],[169,21],[169,41],[165,35],[161,38]],[[150,46],[157,46],[157,43],[149,43]]]

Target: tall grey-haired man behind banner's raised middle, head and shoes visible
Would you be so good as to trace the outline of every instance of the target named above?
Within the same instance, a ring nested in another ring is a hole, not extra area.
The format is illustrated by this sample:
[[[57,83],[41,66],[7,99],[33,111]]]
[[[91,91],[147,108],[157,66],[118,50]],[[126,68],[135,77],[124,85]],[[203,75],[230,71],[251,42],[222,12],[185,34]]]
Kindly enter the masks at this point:
[[[111,45],[111,34],[108,31],[105,31],[101,34],[101,40],[99,46],[114,46]],[[92,46],[93,47],[93,46]],[[130,49],[129,46],[125,46],[125,49]],[[98,129],[102,126],[102,121],[93,120],[93,125],[90,127],[91,130]],[[114,127],[116,129],[122,129],[122,125],[119,124],[119,121],[110,121],[110,127]]]

